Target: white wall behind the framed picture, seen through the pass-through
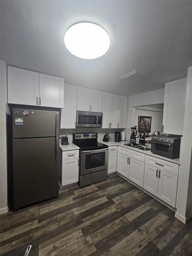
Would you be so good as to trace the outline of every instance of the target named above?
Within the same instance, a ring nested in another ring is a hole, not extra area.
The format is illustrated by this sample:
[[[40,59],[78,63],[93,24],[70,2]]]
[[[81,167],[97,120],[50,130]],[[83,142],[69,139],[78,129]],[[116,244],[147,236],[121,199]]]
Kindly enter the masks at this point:
[[[151,132],[149,134],[154,133],[154,131],[160,131],[162,134],[162,125],[163,125],[163,110],[144,110],[144,109],[135,109],[135,121],[134,125],[137,125],[138,128],[138,116],[151,116]]]

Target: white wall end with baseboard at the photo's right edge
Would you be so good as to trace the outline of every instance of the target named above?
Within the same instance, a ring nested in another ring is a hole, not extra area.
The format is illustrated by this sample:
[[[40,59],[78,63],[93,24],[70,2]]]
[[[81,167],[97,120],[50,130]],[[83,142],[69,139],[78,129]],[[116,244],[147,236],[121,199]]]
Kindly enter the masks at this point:
[[[192,66],[187,73],[187,91],[184,114],[183,140],[180,149],[176,217],[184,223],[192,217]]]

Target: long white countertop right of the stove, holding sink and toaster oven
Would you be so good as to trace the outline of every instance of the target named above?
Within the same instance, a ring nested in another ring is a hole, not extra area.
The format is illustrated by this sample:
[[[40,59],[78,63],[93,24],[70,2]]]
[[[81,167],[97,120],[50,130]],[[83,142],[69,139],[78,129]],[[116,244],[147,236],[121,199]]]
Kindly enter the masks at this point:
[[[109,140],[109,142],[104,142],[104,141],[98,141],[98,142],[103,143],[107,146],[122,146],[122,147],[125,147],[125,148],[129,148],[131,150],[141,152],[141,153],[146,154],[146,155],[151,155],[151,156],[154,156],[156,158],[160,158],[160,159],[163,159],[163,160],[175,163],[175,164],[180,164],[179,157],[171,159],[171,158],[168,158],[168,157],[164,157],[164,156],[161,156],[161,155],[154,154],[150,150],[145,151],[145,150],[140,150],[140,149],[137,149],[137,148],[134,148],[134,147],[125,146],[123,144],[129,143],[129,141],[126,141],[126,140],[125,141],[120,141],[120,142],[115,142],[114,140]],[[151,144],[146,143],[146,146],[149,146],[149,148],[151,148]]]

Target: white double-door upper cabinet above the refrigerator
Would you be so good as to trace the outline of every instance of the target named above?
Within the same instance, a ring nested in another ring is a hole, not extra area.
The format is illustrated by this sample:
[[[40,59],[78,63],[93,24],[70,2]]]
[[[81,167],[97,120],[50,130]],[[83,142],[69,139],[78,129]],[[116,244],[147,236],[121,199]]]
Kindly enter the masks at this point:
[[[63,108],[64,78],[8,66],[8,103]]]

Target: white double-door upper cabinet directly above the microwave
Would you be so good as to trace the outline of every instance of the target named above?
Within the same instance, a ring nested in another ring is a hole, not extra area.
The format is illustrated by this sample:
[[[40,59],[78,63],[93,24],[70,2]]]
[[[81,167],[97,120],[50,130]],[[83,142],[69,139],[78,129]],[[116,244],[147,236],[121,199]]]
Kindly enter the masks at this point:
[[[102,111],[102,91],[77,86],[77,110]]]

